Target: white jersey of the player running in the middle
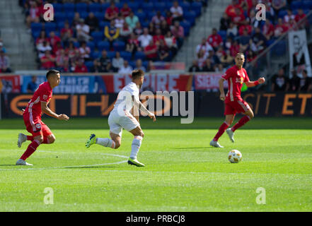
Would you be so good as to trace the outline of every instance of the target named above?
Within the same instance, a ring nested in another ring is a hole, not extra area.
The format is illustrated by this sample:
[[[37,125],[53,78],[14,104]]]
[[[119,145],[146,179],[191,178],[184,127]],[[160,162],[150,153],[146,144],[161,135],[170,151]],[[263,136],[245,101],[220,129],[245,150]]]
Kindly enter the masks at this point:
[[[112,111],[117,110],[129,112],[134,105],[132,96],[137,97],[137,100],[139,100],[139,85],[134,82],[129,83],[124,88],[122,88],[122,90],[120,90],[114,105],[114,109],[112,109]]]

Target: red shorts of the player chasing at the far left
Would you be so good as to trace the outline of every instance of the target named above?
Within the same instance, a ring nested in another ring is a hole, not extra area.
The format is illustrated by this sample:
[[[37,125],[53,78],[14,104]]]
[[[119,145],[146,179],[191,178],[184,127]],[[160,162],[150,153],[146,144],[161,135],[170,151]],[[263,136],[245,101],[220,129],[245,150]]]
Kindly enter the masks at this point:
[[[49,136],[52,134],[49,127],[41,121],[41,118],[29,112],[23,114],[26,129],[33,136]]]

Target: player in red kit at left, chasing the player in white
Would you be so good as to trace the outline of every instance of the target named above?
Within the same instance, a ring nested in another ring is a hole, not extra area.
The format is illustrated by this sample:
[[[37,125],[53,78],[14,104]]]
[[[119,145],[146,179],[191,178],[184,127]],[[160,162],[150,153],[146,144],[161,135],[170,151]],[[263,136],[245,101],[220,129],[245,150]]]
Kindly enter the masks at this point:
[[[52,97],[52,89],[59,85],[60,82],[61,76],[59,75],[59,71],[48,71],[47,82],[39,85],[33,97],[28,102],[28,106],[23,112],[23,119],[27,131],[33,136],[26,136],[23,133],[18,134],[18,148],[21,148],[22,143],[25,141],[31,141],[31,143],[28,145],[25,153],[16,162],[16,165],[32,165],[25,162],[25,160],[35,152],[37,147],[41,143],[53,143],[55,141],[55,136],[41,120],[42,112],[59,120],[67,121],[69,119],[66,114],[56,114],[47,107]]]

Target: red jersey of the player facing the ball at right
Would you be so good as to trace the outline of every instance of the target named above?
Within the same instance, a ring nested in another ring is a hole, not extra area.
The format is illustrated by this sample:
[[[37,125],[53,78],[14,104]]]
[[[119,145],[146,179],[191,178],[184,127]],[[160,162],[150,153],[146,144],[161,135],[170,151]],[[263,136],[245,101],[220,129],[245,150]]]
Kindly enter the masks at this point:
[[[222,76],[229,83],[229,91],[226,93],[226,102],[232,102],[234,100],[241,100],[241,87],[243,83],[249,81],[247,72],[245,69],[238,70],[238,66],[232,66],[226,70],[224,76]]]

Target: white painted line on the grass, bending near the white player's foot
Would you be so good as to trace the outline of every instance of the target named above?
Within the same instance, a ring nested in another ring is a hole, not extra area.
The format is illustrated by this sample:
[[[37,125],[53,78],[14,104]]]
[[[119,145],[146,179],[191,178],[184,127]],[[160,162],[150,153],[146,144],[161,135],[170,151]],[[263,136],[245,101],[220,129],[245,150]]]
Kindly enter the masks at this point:
[[[49,150],[38,150],[39,153],[64,153],[64,154],[70,154],[68,152],[62,152],[62,151],[49,151]],[[71,153],[73,154],[73,153]],[[93,153],[93,154],[100,154],[100,155],[109,155],[109,156],[115,156],[115,157],[122,157],[128,159],[125,155],[116,155],[116,154],[108,154],[108,153]],[[61,167],[43,167],[43,168],[33,168],[28,166],[28,168],[21,168],[21,169],[0,169],[0,171],[16,171],[16,170],[43,170],[43,169],[62,169],[62,168],[77,168],[77,167],[96,167],[101,165],[115,165],[115,164],[121,164],[127,162],[127,160],[123,160],[120,162],[108,162],[108,163],[101,163],[101,164],[94,164],[94,165],[67,165],[67,166],[61,166]]]

